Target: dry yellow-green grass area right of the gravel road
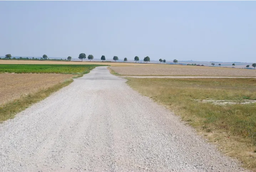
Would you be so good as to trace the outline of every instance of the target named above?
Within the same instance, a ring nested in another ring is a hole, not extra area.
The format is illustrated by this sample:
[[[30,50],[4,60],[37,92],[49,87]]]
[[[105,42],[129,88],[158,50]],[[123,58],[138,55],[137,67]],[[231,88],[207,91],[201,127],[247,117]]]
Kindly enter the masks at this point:
[[[256,100],[253,78],[128,78],[127,83],[165,105],[218,145],[226,155],[256,171],[256,104],[216,105],[198,100]]]

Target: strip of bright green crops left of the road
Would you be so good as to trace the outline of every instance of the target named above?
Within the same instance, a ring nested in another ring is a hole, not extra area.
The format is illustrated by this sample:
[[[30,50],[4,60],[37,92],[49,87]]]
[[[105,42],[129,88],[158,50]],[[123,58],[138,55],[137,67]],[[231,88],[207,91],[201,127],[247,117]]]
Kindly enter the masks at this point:
[[[1,65],[0,73],[62,73],[85,74],[97,66],[105,65]]]

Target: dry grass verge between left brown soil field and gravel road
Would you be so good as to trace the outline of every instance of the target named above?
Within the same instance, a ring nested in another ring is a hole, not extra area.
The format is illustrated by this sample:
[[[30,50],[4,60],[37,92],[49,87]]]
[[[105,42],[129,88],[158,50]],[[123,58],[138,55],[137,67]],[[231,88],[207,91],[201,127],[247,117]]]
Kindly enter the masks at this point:
[[[31,106],[31,104],[37,101],[45,99],[51,93],[69,85],[71,82],[73,82],[72,78],[66,79],[66,81],[62,83],[55,84],[49,88],[41,89],[34,94],[30,93],[26,96],[22,96],[19,99],[0,106],[0,122],[13,118],[16,113],[26,109],[27,107]]]

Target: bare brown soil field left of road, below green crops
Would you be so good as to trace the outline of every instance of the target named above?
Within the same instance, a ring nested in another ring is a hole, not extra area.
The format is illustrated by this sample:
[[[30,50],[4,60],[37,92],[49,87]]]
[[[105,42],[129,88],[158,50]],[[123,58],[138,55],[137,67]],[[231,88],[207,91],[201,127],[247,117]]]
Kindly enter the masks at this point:
[[[0,105],[18,99],[22,95],[36,93],[41,89],[73,77],[72,74],[53,73],[1,73],[0,74]]]

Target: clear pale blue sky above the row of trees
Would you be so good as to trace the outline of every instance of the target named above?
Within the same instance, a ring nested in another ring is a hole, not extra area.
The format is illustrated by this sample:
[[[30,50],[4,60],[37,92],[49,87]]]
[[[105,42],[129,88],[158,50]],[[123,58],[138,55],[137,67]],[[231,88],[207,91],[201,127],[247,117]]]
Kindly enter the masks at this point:
[[[0,1],[0,56],[256,62],[256,1]]]

